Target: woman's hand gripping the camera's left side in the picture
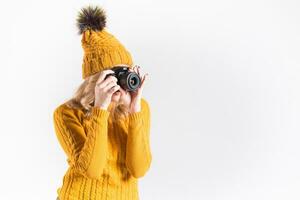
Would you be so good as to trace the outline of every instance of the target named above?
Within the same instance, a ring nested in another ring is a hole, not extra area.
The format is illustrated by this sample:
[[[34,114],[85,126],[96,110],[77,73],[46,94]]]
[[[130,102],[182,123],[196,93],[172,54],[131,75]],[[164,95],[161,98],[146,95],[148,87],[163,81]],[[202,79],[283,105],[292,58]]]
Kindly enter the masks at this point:
[[[96,107],[107,110],[111,97],[114,92],[120,89],[117,84],[118,79],[114,76],[109,76],[105,79],[108,74],[112,74],[114,71],[107,69],[103,70],[95,85],[95,105]]]

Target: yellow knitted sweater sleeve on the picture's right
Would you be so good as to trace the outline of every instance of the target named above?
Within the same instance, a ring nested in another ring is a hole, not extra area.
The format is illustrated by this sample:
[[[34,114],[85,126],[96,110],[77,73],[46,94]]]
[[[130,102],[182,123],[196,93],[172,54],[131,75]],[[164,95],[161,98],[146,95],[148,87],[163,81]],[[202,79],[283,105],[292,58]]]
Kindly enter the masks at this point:
[[[142,98],[141,110],[129,114],[126,145],[126,166],[135,178],[144,176],[151,165],[150,118],[149,104]]]

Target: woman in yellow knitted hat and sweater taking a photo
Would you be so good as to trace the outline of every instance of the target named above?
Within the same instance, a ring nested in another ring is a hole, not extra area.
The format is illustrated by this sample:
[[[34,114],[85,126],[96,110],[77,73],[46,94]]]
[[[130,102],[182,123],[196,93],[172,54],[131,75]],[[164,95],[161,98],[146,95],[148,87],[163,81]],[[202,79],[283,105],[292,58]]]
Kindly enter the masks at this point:
[[[84,82],[54,110],[55,132],[69,164],[59,200],[137,200],[138,178],[151,165],[150,107],[142,98],[148,74],[132,65],[129,52],[104,29],[105,19],[97,6],[79,13]],[[135,92],[108,76],[120,65],[140,76]]]

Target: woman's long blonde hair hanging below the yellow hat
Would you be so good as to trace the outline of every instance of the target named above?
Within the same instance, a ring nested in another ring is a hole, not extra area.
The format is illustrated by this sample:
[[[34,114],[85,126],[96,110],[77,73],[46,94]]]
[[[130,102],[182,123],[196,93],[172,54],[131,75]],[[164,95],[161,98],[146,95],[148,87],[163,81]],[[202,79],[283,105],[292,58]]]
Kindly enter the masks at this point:
[[[70,108],[82,109],[86,116],[90,116],[95,103],[95,86],[101,72],[97,72],[84,79],[79,85],[72,98],[67,100],[66,105]],[[122,103],[114,103],[109,110],[114,122],[125,118],[129,112],[128,107]]]

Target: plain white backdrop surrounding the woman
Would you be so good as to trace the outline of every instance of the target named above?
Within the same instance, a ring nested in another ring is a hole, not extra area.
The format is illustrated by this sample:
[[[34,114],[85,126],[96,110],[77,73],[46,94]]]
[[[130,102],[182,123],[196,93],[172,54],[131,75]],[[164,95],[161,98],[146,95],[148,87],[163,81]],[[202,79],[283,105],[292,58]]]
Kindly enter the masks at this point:
[[[299,1],[88,2],[149,73],[142,200],[300,199]],[[1,3],[0,199],[56,198],[52,114],[82,82],[86,3]]]

